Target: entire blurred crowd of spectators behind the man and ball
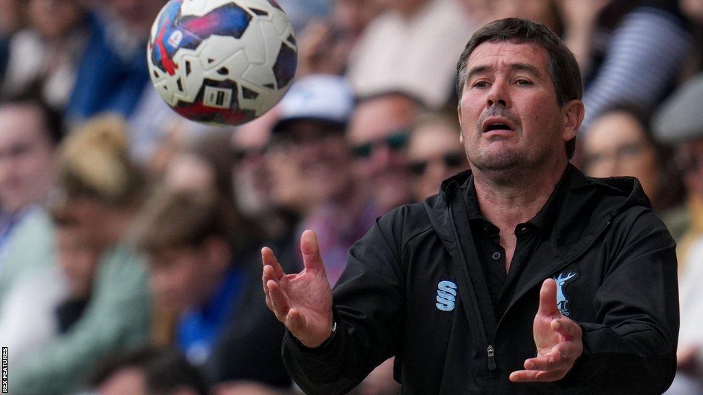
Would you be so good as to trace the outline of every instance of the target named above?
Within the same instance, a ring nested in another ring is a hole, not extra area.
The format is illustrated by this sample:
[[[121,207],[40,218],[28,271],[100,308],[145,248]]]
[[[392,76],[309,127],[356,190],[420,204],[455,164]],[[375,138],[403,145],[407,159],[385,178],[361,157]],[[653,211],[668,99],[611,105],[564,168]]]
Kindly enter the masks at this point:
[[[378,216],[468,169],[456,61],[508,16],[560,34],[586,82],[573,162],[635,176],[678,243],[667,394],[703,394],[703,0],[279,0],[295,82],[214,128],[149,82],[164,0],[0,0],[0,346],[11,394],[285,395],[259,250],[330,283]],[[333,285],[333,284],[332,284]],[[643,290],[647,292],[647,290]],[[355,394],[398,394],[389,360]]]

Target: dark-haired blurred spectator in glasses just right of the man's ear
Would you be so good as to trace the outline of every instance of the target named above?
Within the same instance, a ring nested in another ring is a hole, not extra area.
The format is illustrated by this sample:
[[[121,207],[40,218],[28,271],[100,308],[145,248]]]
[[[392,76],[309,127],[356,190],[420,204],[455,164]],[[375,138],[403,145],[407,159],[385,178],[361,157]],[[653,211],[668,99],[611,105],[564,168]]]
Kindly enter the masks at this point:
[[[593,177],[636,177],[654,210],[663,214],[681,203],[683,186],[671,151],[654,141],[648,124],[640,110],[628,105],[595,119],[583,141],[584,170]]]

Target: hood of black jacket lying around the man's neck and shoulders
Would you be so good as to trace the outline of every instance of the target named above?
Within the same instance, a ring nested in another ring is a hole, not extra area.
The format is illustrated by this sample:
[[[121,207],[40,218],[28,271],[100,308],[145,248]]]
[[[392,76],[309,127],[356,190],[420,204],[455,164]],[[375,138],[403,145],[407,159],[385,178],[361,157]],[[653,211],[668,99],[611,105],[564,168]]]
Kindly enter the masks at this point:
[[[612,219],[626,209],[652,209],[640,182],[634,177],[595,179],[585,176],[572,164],[569,164],[567,171],[565,194],[560,202],[555,202],[560,206],[554,211],[557,218],[554,219],[554,226],[546,230],[548,235],[545,235],[553,241],[557,254],[565,261],[578,257],[610,225]],[[449,207],[460,203],[458,196],[465,193],[470,179],[470,170],[456,174],[442,183],[439,195],[425,200],[430,223],[445,247],[455,242]],[[591,215],[584,216],[584,212]]]

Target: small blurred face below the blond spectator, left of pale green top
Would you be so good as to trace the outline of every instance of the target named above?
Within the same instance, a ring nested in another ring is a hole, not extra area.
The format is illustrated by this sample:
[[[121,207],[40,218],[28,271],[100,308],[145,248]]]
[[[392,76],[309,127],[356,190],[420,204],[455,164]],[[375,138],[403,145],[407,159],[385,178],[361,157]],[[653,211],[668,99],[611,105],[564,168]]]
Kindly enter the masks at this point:
[[[93,287],[98,251],[86,244],[84,233],[77,226],[62,225],[56,229],[56,261],[68,280],[70,294],[88,297]]]

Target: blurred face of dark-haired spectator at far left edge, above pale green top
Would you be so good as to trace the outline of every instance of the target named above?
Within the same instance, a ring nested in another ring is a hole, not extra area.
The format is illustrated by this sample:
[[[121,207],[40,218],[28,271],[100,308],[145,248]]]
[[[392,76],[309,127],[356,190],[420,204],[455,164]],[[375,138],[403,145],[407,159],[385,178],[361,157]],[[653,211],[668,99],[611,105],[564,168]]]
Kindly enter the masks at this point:
[[[51,183],[53,146],[39,108],[0,107],[0,207],[15,213],[41,202]]]

